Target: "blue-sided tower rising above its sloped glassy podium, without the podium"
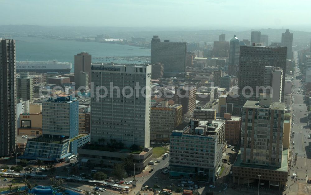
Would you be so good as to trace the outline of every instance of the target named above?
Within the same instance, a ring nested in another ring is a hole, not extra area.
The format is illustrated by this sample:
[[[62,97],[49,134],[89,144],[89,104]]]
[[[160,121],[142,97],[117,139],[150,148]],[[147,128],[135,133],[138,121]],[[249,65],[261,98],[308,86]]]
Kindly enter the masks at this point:
[[[60,94],[42,103],[42,131],[51,137],[78,135],[79,102],[71,95]]]

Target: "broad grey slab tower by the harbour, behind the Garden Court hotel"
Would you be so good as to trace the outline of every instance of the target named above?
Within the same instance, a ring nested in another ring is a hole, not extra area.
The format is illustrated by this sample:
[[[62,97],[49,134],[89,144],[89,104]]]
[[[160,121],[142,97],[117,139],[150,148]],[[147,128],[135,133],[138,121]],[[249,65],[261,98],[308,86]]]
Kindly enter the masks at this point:
[[[186,70],[186,42],[160,41],[159,36],[151,40],[151,64],[164,64],[164,76],[176,76]]]

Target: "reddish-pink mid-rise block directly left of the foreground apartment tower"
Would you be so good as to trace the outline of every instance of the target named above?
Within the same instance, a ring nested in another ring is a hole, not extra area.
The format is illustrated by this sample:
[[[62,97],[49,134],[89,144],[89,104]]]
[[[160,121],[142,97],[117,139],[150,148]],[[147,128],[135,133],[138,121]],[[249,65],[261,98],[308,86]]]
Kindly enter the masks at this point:
[[[230,113],[224,114],[225,139],[227,144],[239,145],[241,140],[242,117],[232,117]]]

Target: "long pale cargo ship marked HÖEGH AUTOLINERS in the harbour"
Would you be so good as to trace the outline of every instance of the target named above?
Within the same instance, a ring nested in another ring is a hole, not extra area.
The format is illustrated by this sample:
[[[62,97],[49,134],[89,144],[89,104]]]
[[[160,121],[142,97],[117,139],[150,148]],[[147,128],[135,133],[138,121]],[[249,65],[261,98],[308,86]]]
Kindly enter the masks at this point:
[[[68,73],[72,68],[70,62],[58,62],[57,60],[50,61],[17,61],[16,71],[28,71],[37,73],[48,73],[48,72],[58,72],[58,73]]]

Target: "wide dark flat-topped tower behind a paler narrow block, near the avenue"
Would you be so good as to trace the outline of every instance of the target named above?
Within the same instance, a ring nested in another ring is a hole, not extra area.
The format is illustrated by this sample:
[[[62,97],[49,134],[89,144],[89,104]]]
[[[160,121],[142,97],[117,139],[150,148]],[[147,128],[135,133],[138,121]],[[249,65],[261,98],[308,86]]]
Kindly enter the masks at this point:
[[[239,61],[239,90],[245,93],[262,93],[264,86],[265,66],[280,67],[286,72],[286,47],[241,46]],[[283,77],[284,85],[285,77]],[[282,94],[284,86],[282,86]],[[245,103],[245,102],[244,102]],[[243,103],[243,105],[244,105]],[[242,105],[241,105],[242,106]]]

